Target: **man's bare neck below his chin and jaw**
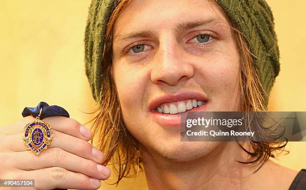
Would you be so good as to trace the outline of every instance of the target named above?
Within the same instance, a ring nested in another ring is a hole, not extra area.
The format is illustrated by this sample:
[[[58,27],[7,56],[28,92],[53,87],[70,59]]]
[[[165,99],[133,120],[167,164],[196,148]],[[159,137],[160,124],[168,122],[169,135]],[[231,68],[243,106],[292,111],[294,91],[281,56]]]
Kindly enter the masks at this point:
[[[250,160],[237,142],[221,142],[196,160],[178,162],[152,151],[142,156],[149,189],[240,189],[241,178],[253,171],[236,161]]]

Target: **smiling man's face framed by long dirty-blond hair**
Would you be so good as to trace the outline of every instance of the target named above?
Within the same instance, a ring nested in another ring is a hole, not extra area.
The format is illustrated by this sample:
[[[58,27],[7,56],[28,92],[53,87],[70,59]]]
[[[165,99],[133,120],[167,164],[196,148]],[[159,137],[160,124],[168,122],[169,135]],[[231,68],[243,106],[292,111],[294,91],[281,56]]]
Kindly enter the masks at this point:
[[[222,145],[180,141],[179,112],[240,107],[237,47],[225,12],[207,0],[132,0],[114,23],[112,71],[130,133],[172,160]]]

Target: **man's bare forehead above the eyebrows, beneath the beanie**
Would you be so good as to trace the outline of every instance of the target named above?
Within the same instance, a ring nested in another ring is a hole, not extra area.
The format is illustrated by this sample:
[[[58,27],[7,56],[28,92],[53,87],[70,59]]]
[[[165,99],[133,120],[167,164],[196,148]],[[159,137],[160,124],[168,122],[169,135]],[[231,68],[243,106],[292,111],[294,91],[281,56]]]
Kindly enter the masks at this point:
[[[175,29],[194,20],[218,20],[228,25],[226,13],[213,0],[131,0],[115,20],[113,32],[116,36],[135,29]]]

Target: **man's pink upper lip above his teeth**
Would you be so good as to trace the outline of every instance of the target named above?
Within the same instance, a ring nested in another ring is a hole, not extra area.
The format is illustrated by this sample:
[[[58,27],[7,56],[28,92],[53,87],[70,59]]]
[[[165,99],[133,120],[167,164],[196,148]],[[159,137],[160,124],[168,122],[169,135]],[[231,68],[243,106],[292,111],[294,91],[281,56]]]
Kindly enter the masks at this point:
[[[174,94],[166,93],[156,96],[149,101],[149,110],[154,110],[160,104],[167,102],[182,101],[185,99],[207,100],[206,96],[196,91],[180,91]]]

